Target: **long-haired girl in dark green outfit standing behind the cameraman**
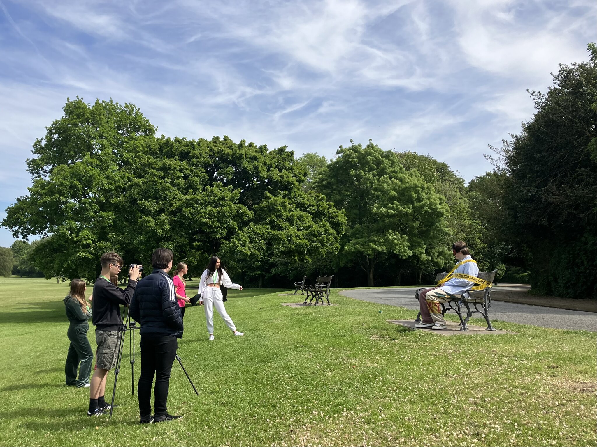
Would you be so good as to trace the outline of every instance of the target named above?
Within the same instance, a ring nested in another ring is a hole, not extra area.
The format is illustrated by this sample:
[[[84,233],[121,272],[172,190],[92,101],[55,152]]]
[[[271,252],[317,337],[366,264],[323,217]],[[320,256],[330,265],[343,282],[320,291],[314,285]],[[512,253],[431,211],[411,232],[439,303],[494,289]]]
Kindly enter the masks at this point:
[[[85,290],[87,290],[85,281],[72,280],[69,294],[63,300],[66,307],[66,318],[70,322],[69,330],[66,333],[70,345],[64,365],[64,374],[66,375],[66,384],[78,388],[90,387],[89,376],[93,365],[93,350],[87,339],[89,330],[87,320],[91,318],[91,309],[85,300]],[[79,368],[79,380],[77,380],[76,370],[79,363],[81,368]]]

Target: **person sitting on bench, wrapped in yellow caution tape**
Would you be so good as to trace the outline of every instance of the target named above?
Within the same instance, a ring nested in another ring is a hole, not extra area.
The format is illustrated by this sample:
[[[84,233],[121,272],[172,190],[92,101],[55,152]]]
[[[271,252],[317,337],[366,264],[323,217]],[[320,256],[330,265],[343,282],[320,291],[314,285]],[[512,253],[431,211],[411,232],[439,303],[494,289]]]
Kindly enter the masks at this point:
[[[475,285],[472,281],[462,278],[476,277],[479,274],[476,261],[470,257],[469,247],[463,241],[458,241],[452,245],[452,253],[458,260],[452,271],[439,281],[438,287],[423,290],[418,296],[421,322],[414,326],[416,328],[445,329],[446,322],[442,315],[441,303],[457,298],[458,294]]]

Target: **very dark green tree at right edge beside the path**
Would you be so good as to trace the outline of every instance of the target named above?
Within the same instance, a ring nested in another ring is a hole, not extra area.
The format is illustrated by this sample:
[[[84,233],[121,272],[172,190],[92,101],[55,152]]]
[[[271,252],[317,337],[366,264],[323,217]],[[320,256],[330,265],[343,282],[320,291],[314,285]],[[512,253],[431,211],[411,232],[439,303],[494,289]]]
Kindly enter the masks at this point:
[[[561,65],[506,155],[512,238],[530,250],[531,285],[564,297],[597,296],[597,57]]]

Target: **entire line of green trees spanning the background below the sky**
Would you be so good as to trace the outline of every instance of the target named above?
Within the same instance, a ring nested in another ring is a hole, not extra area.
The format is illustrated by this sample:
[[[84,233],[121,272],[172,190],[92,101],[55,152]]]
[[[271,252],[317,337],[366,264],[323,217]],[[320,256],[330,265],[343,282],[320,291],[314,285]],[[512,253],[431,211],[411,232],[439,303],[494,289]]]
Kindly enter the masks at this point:
[[[469,184],[446,163],[373,141],[296,159],[227,136],[165,138],[133,104],[67,100],[33,144],[14,237],[46,277],[96,278],[101,253],[149,265],[168,247],[191,274],[218,254],[245,286],[307,275],[341,287],[432,282],[465,240],[482,270],[559,296],[595,296],[597,122],[590,61],[560,67],[492,172]]]

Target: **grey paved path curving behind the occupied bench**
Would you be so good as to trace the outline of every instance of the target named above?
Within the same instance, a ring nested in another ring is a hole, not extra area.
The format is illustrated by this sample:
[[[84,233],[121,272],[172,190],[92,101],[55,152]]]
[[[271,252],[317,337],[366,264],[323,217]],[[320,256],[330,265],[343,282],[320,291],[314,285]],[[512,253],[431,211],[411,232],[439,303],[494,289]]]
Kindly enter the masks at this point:
[[[407,309],[418,310],[418,303],[414,299],[416,287],[405,288],[369,288],[359,290],[344,290],[340,293],[350,298],[371,303],[401,306]],[[453,312],[451,312],[453,313]],[[473,315],[473,318],[479,316]],[[481,317],[482,318],[482,317]],[[544,308],[526,304],[506,303],[492,301],[490,319],[511,321],[522,324],[556,329],[587,330],[597,332],[597,313],[567,311],[565,309]],[[498,324],[499,325],[499,324]]]

